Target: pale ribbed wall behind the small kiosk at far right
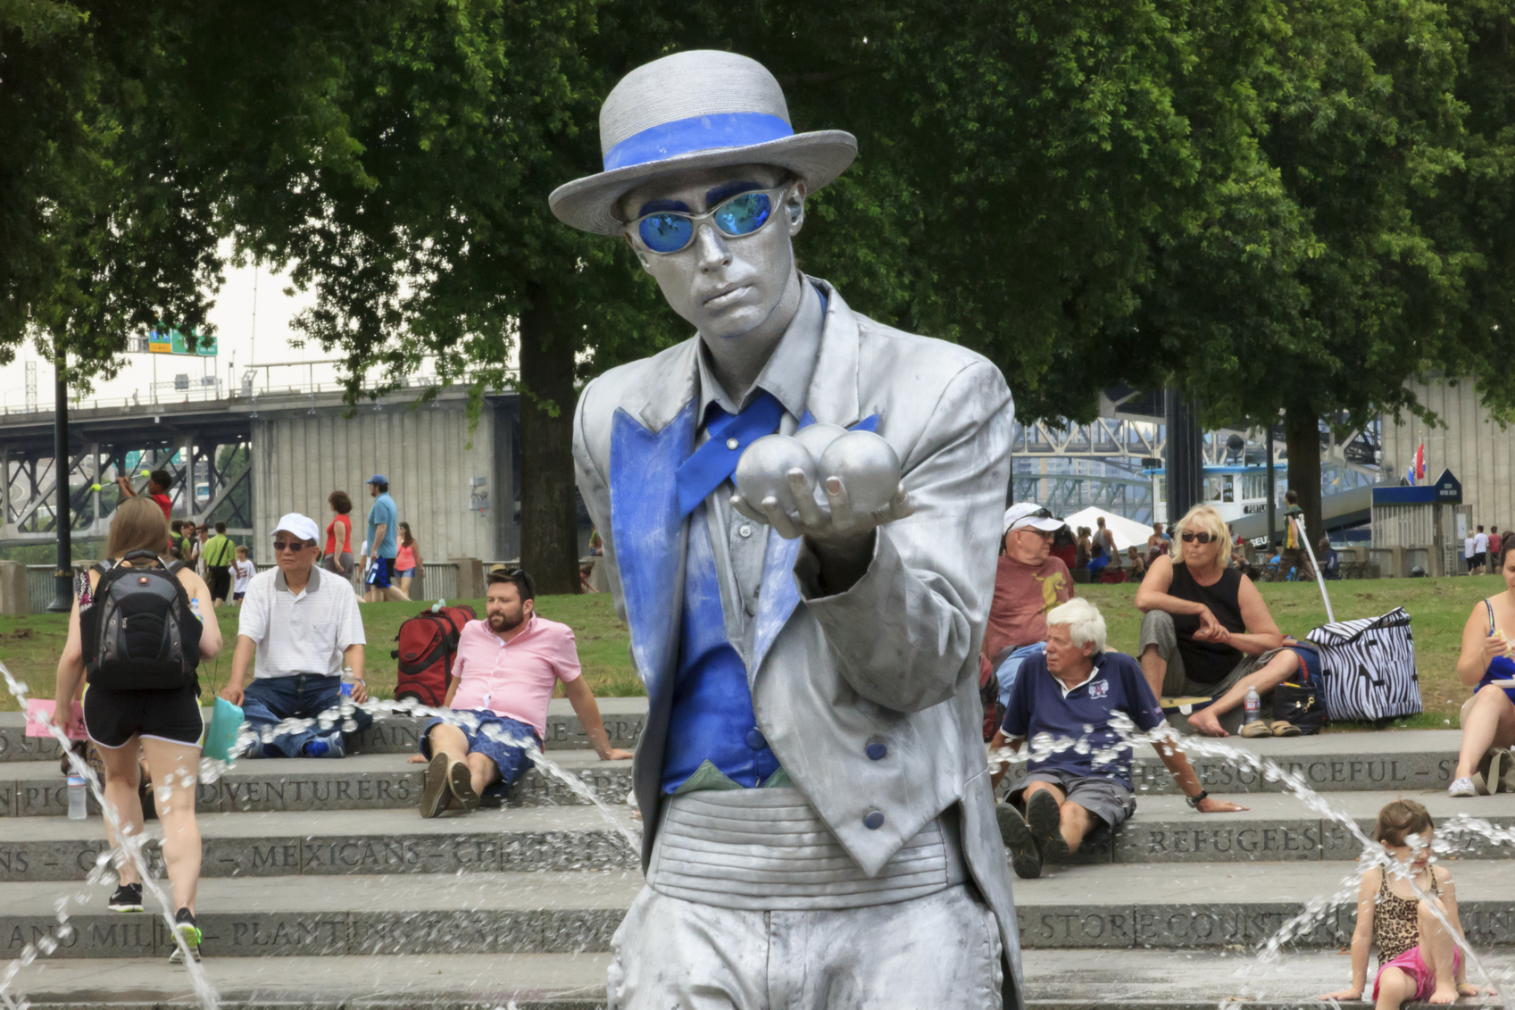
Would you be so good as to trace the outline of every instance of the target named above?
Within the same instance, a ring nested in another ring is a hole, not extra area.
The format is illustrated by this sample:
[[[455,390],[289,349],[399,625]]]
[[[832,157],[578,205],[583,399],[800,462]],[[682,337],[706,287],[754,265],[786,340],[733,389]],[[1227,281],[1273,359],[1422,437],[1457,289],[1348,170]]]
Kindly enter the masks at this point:
[[[1471,379],[1459,379],[1456,385],[1445,379],[1407,385],[1447,428],[1429,428],[1420,420],[1395,425],[1385,417],[1383,478],[1397,482],[1404,476],[1415,447],[1424,441],[1426,478],[1435,481],[1450,469],[1462,481],[1462,500],[1471,507],[1474,525],[1515,528],[1515,428],[1503,429],[1489,420]],[[1450,526],[1447,532],[1450,537]]]

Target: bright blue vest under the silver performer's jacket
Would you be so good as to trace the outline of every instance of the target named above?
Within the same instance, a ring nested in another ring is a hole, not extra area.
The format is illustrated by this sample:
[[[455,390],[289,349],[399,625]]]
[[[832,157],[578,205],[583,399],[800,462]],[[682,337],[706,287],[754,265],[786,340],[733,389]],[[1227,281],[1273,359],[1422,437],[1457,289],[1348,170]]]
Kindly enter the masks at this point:
[[[779,758],[758,728],[747,664],[726,637],[704,505],[689,516],[680,625],[662,790],[673,793],[704,761],[756,789],[779,770]]]

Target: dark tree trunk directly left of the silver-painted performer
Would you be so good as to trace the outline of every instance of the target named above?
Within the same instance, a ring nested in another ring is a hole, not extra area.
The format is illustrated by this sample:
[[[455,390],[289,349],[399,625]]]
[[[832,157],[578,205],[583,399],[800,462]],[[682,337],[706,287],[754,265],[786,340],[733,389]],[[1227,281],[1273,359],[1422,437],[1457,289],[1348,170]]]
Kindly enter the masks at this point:
[[[545,296],[521,314],[521,567],[536,591],[579,591],[573,475],[574,341]]]

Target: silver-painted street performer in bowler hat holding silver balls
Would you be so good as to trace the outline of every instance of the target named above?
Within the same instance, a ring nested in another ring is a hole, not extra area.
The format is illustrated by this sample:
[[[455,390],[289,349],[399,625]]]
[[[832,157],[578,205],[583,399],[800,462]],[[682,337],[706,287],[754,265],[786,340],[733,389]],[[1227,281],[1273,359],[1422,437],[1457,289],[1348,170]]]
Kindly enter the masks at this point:
[[[800,273],[806,196],[856,140],[795,133],[762,65],[639,67],[600,144],[553,212],[629,243],[697,331],[574,419],[648,695],[609,1005],[1018,1007],[977,699],[1004,378]]]

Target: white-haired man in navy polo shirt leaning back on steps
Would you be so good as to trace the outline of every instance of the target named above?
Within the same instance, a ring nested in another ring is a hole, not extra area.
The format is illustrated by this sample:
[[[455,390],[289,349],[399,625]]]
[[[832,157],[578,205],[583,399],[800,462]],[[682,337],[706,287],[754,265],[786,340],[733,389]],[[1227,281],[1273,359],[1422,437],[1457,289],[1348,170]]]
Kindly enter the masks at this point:
[[[1020,751],[1032,760],[998,804],[1000,833],[1018,877],[1039,877],[1042,860],[1064,861],[1094,831],[1114,831],[1136,811],[1132,751],[1112,726],[1117,711],[1138,729],[1164,725],[1141,664],[1104,651],[1104,617],[1086,599],[1070,599],[1047,614],[1047,652],[1032,657],[1011,692],[991,751]],[[1210,798],[1173,745],[1154,742],[1189,805],[1200,813],[1245,810]],[[1001,764],[991,781],[998,786]],[[1024,814],[1021,813],[1024,810]]]

